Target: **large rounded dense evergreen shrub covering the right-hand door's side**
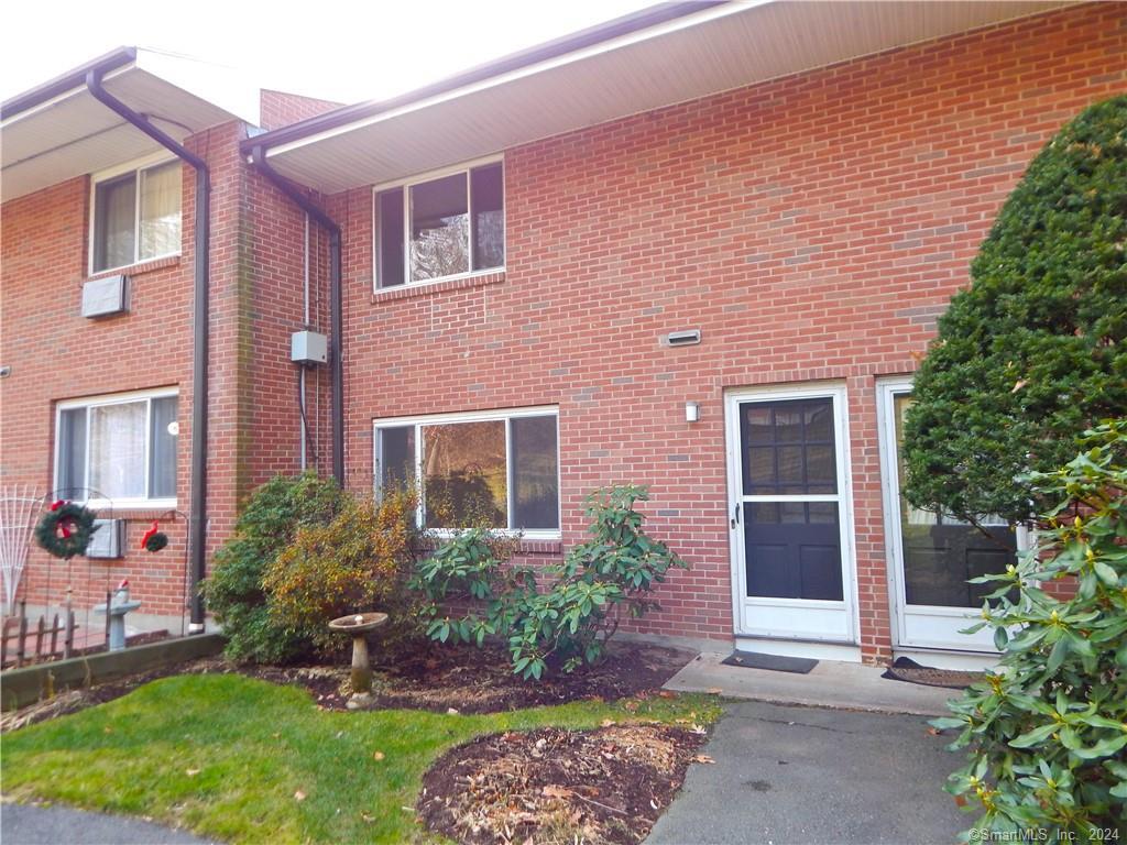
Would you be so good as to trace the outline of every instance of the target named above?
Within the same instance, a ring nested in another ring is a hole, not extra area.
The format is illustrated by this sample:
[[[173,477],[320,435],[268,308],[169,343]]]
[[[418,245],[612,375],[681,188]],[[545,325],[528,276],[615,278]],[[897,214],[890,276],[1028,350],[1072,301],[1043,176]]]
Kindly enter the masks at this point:
[[[916,507],[1020,523],[1073,435],[1127,408],[1127,96],[1030,163],[939,320],[905,421]]]

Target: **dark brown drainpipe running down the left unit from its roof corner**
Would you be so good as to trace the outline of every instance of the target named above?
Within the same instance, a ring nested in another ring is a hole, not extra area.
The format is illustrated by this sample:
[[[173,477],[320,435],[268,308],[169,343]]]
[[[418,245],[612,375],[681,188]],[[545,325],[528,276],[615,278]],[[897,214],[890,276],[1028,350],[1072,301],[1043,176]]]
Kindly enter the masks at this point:
[[[204,630],[204,603],[199,581],[206,567],[207,549],[207,344],[208,344],[208,272],[211,267],[211,177],[206,162],[161,132],[147,117],[137,114],[101,87],[104,69],[92,68],[86,74],[86,87],[99,103],[141,130],[196,171],[195,287],[193,293],[192,346],[192,505],[188,530],[192,594],[192,621],[188,633]]]

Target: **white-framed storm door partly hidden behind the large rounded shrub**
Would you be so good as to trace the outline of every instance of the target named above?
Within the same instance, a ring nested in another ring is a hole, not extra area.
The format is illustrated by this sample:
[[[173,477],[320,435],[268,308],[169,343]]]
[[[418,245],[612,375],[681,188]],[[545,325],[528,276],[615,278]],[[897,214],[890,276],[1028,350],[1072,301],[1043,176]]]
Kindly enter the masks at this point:
[[[881,475],[894,641],[900,648],[994,652],[993,629],[959,633],[979,616],[990,584],[967,579],[1015,562],[1018,534],[997,519],[982,530],[943,514],[919,510],[900,492],[904,480],[904,412],[912,382],[882,382]]]

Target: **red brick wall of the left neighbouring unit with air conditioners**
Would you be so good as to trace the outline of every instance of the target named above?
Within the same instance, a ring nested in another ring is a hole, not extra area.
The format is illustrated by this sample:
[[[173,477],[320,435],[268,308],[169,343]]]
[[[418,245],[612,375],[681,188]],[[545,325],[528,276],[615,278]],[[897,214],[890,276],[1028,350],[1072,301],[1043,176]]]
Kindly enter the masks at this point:
[[[250,372],[240,366],[248,331],[239,303],[249,296],[246,170],[237,142],[243,128],[218,127],[189,139],[212,169],[212,366],[210,384],[210,549],[233,521],[249,479],[246,453],[252,398]],[[192,300],[194,281],[194,171],[183,169],[181,255],[126,270],[128,313],[100,320],[80,315],[88,278],[89,180],[73,179],[6,203],[2,208],[2,293],[0,361],[11,375],[0,381],[0,486],[28,483],[41,495],[52,488],[54,407],[61,399],[176,385],[179,389],[177,504],[189,507],[192,443]],[[241,392],[241,399],[240,399]],[[241,469],[240,469],[241,468]],[[240,487],[242,484],[242,487]],[[107,514],[108,515],[108,514]],[[177,615],[185,601],[186,524],[178,516],[116,510],[127,523],[127,553],[118,561],[78,558],[66,564],[33,549],[24,577],[32,604],[64,598],[68,580],[77,608],[104,601],[107,586],[131,580],[141,613]],[[137,551],[153,518],[162,519],[171,543],[162,552]]]

